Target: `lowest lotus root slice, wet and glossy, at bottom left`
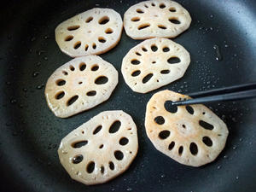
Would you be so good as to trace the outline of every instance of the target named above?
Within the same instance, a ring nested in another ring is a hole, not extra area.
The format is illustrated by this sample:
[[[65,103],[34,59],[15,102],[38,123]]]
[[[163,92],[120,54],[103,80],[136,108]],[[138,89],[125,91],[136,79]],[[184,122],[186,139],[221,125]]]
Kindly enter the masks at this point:
[[[64,137],[58,154],[70,177],[97,184],[125,172],[137,148],[137,127],[131,116],[105,111]]]

